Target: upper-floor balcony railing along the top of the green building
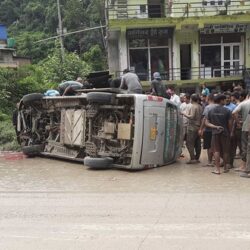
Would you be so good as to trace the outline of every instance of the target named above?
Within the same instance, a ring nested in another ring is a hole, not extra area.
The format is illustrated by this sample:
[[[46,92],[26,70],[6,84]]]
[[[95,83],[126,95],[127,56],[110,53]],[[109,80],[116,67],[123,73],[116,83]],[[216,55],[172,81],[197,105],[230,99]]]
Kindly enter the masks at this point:
[[[199,17],[250,13],[249,0],[204,0],[166,4],[109,4],[108,19]]]

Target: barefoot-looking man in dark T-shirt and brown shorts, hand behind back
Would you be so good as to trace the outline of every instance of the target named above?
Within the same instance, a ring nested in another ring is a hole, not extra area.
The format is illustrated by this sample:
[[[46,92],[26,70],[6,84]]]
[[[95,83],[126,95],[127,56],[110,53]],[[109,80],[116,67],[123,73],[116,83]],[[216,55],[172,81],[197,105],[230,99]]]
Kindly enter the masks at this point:
[[[224,173],[229,171],[230,133],[232,128],[231,112],[224,107],[226,96],[219,94],[214,98],[217,106],[208,113],[205,124],[212,128],[212,148],[215,158],[215,171],[213,174],[220,174],[220,157],[224,161]]]

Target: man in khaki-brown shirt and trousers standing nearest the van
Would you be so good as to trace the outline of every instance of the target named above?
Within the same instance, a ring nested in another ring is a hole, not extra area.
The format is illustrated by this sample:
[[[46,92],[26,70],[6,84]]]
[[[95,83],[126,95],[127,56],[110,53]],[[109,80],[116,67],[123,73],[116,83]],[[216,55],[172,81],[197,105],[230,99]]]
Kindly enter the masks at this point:
[[[201,125],[202,107],[199,105],[198,101],[198,95],[192,94],[192,105],[189,109],[189,112],[182,112],[182,115],[188,118],[186,144],[190,154],[190,160],[187,162],[187,164],[198,163],[201,153],[201,140],[198,132]]]

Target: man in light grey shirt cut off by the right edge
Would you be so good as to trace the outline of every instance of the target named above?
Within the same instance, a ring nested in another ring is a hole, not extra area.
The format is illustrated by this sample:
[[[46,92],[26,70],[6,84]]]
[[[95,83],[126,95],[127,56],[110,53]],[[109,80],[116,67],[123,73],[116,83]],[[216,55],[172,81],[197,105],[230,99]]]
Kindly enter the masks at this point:
[[[242,150],[242,165],[236,171],[246,171],[246,158],[247,158],[247,143],[248,143],[248,113],[250,111],[250,92],[245,101],[241,102],[233,111],[234,118],[238,119],[238,113],[242,117],[242,132],[241,132],[241,150]]]

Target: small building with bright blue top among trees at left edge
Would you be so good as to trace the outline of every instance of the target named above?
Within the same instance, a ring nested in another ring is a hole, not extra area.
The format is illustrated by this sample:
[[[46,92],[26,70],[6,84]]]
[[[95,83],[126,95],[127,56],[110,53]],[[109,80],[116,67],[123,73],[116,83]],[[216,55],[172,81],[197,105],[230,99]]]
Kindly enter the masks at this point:
[[[16,56],[14,45],[14,39],[8,39],[6,27],[0,24],[0,68],[18,68],[31,63],[29,58]]]

